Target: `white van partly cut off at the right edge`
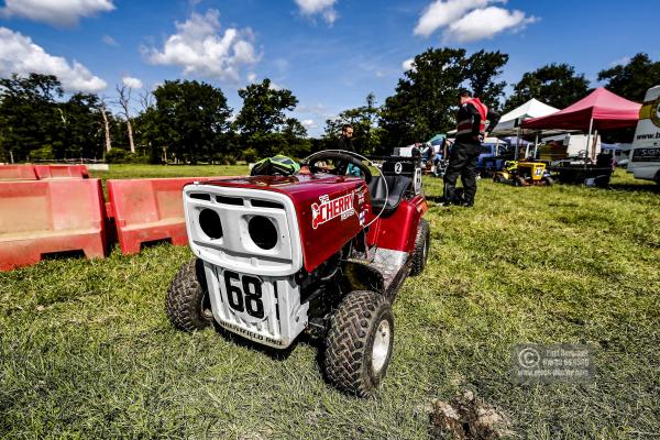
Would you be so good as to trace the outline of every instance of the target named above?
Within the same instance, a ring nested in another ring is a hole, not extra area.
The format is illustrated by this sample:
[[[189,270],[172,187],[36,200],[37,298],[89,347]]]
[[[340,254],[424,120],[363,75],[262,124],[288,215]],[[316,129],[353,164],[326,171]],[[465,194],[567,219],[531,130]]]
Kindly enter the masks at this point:
[[[647,90],[629,157],[628,173],[660,185],[660,86]]]

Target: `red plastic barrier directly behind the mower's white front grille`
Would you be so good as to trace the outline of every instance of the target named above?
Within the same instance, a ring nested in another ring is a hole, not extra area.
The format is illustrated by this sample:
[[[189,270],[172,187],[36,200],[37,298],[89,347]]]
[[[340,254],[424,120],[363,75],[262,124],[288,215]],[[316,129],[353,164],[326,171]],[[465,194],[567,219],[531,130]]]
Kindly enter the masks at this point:
[[[121,252],[135,254],[142,243],[158,240],[169,240],[175,245],[188,244],[182,194],[184,185],[217,178],[108,180],[108,216],[114,218]]]

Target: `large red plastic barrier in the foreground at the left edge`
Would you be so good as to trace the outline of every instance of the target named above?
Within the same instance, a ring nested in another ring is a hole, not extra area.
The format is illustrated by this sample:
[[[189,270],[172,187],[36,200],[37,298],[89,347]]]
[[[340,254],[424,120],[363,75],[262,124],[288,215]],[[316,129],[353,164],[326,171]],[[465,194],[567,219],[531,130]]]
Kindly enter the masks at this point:
[[[67,251],[106,255],[101,180],[0,182],[0,271]]]

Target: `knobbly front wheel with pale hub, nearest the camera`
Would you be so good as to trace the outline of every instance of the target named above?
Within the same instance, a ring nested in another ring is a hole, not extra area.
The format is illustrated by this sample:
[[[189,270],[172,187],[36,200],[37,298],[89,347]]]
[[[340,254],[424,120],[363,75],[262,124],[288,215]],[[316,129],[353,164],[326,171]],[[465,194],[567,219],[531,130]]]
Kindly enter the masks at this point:
[[[389,365],[394,316],[380,294],[356,290],[346,295],[330,320],[323,369],[339,389],[372,397]]]

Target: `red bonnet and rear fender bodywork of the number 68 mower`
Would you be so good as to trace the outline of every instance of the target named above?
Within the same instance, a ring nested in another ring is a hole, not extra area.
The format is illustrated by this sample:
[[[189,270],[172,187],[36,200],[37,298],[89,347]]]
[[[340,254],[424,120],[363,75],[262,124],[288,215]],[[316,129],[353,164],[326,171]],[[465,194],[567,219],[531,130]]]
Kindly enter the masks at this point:
[[[296,208],[302,261],[308,272],[337,253],[375,218],[366,183],[358,177],[297,174],[287,177],[239,177],[208,184],[287,195]],[[413,252],[417,226],[426,210],[427,204],[421,196],[402,200],[398,209],[388,218],[381,218],[372,223],[367,243]]]

